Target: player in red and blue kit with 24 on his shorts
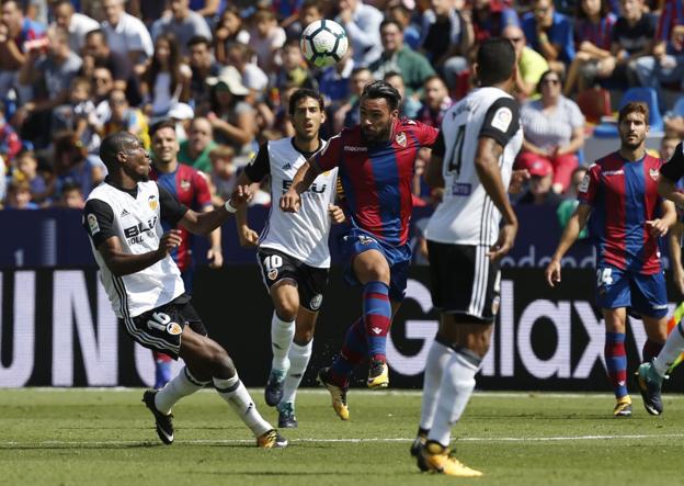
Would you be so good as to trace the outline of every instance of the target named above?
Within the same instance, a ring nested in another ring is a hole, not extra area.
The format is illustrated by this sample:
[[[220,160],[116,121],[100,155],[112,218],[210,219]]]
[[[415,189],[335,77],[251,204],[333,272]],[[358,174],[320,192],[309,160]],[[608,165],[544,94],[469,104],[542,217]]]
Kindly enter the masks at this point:
[[[658,195],[662,161],[646,152],[648,106],[628,103],[619,112],[620,148],[589,168],[579,188],[580,205],[568,222],[546,279],[560,282],[560,261],[591,214],[596,240],[596,299],[606,326],[605,361],[617,404],[616,417],[631,415],[627,393],[627,308],[641,316],[643,360],[658,355],[668,336],[668,294],[658,238],[676,221],[674,204]]]

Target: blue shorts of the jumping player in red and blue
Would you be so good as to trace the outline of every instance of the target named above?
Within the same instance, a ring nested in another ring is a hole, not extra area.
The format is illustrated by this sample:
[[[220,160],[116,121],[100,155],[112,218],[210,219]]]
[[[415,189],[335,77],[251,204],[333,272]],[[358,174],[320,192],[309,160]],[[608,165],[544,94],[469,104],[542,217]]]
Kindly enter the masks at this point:
[[[389,298],[397,302],[403,301],[409,264],[411,263],[409,245],[394,247],[363,229],[352,228],[340,238],[340,248],[346,259],[344,281],[350,285],[361,285],[352,265],[354,257],[368,250],[377,250],[383,253],[389,264]]]

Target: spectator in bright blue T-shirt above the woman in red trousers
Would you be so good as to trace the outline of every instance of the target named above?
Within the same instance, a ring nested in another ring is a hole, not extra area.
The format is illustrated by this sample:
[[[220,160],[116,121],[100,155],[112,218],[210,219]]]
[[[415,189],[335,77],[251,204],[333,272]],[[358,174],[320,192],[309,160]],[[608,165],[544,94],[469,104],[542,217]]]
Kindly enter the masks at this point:
[[[544,56],[552,70],[565,72],[566,65],[574,59],[571,20],[557,12],[551,0],[533,0],[522,27],[528,45]]]

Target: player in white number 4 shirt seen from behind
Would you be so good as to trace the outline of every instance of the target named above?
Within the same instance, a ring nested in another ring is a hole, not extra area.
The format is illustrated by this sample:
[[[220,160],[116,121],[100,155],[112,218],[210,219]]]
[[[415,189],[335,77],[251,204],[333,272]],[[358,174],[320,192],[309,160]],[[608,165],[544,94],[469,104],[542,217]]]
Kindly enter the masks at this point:
[[[451,432],[475,388],[499,309],[499,260],[517,233],[508,189],[523,142],[520,108],[511,95],[516,79],[511,42],[482,43],[476,70],[480,88],[444,114],[429,166],[428,182],[444,189],[425,229],[440,327],[425,363],[420,427],[411,445],[422,471],[460,477],[482,475],[452,455]]]

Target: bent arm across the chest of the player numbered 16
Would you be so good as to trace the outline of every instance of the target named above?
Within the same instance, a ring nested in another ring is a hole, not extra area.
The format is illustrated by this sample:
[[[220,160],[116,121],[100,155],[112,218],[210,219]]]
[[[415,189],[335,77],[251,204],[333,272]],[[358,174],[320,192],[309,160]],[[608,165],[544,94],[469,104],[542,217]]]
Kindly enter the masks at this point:
[[[121,240],[117,236],[112,236],[98,246],[98,251],[102,255],[107,269],[116,275],[129,275],[153,265],[159,260],[169,255],[171,250],[181,244],[181,234],[178,229],[164,233],[159,240],[159,248],[141,255],[125,253],[122,250]]]

